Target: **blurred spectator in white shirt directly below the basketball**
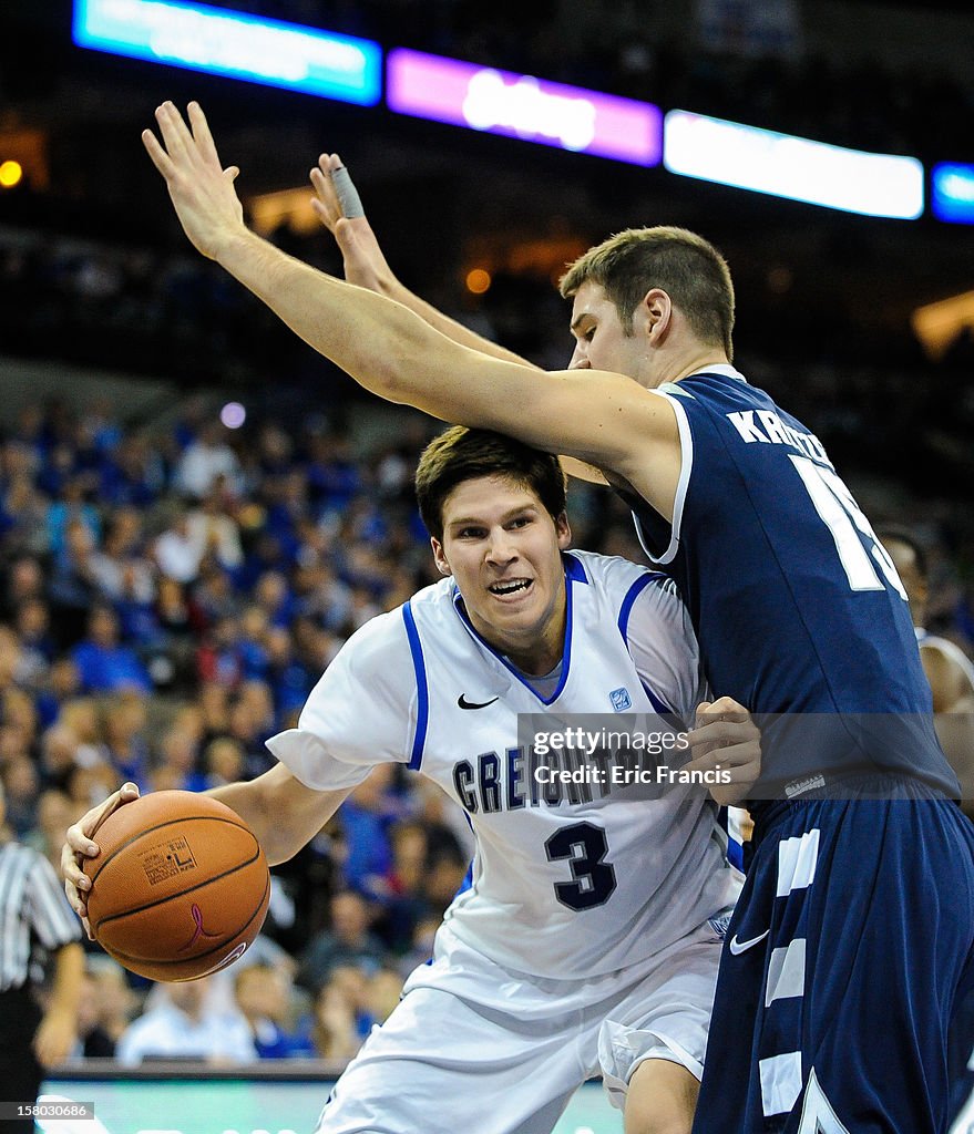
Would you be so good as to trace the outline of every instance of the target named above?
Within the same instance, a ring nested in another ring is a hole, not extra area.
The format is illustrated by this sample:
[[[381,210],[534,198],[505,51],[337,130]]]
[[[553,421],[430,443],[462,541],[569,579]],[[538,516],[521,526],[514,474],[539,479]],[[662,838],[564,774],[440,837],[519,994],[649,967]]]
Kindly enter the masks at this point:
[[[257,1058],[250,1026],[240,1012],[207,1008],[210,978],[159,985],[153,1008],[133,1021],[116,1048],[127,1067],[145,1059],[192,1057],[213,1066],[234,1066]]]

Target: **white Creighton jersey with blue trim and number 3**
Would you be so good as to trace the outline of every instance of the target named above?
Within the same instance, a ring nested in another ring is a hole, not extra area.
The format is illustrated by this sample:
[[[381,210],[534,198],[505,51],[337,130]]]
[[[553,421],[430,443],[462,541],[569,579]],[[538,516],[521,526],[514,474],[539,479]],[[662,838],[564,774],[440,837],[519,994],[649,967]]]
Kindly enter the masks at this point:
[[[551,714],[555,728],[565,714],[611,723],[624,711],[672,733],[656,713],[691,719],[705,696],[672,584],[624,559],[573,551],[564,562],[565,649],[547,700],[479,637],[443,579],[358,631],[299,727],[268,742],[317,789],[358,784],[383,761],[435,780],[477,838],[451,929],[498,964],[555,979],[645,959],[732,904],[740,881],[702,788],[660,797],[535,775],[557,761],[519,744],[519,713]]]

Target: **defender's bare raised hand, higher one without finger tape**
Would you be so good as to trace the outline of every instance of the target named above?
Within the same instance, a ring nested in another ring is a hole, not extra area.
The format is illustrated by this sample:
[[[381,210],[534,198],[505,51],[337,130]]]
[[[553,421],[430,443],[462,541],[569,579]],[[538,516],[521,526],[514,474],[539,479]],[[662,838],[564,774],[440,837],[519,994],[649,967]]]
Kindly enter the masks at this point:
[[[240,169],[220,164],[199,103],[190,103],[186,117],[188,125],[171,102],[163,102],[156,109],[162,142],[152,130],[142,132],[142,142],[166,179],[186,236],[204,256],[217,260],[227,242],[247,231],[234,189]]]

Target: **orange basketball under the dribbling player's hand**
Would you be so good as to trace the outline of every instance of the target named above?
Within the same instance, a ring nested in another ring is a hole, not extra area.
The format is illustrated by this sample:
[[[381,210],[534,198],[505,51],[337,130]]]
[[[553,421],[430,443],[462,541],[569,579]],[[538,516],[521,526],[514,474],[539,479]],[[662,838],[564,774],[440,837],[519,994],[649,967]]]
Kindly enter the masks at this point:
[[[99,945],[153,981],[192,981],[236,960],[270,900],[263,850],[225,804],[153,792],[114,811],[87,858],[87,916]]]

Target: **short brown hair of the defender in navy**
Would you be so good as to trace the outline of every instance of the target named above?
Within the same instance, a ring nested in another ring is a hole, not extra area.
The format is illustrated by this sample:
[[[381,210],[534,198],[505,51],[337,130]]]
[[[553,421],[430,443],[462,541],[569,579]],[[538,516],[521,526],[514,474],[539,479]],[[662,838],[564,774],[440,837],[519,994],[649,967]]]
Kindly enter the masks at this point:
[[[591,281],[615,305],[622,329],[632,333],[632,314],[652,288],[673,301],[697,338],[733,356],[733,284],[727,261],[702,236],[686,228],[629,228],[589,248],[559,281],[568,299]]]

